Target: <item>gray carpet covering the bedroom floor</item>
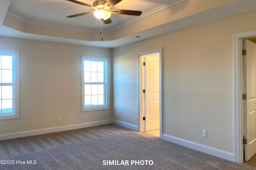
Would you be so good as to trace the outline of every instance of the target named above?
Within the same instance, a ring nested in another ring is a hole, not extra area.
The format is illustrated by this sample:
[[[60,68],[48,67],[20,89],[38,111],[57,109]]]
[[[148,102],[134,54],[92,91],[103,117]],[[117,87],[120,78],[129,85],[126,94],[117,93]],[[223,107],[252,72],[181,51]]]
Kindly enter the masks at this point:
[[[4,170],[256,169],[114,124],[0,141],[0,160],[14,163],[0,164]],[[120,165],[103,165],[104,160],[118,160]]]

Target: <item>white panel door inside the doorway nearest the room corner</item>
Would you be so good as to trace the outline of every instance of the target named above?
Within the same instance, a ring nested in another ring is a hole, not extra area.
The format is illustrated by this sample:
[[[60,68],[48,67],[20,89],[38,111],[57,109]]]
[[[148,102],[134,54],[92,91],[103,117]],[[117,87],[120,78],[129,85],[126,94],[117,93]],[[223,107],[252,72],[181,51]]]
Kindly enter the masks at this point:
[[[159,53],[145,56],[145,131],[160,128],[159,62]]]

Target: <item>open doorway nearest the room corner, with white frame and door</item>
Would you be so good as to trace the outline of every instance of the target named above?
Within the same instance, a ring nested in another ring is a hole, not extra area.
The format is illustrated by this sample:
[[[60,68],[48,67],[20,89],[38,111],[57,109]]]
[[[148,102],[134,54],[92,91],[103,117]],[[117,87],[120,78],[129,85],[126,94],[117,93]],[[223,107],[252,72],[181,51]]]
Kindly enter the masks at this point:
[[[138,57],[140,131],[162,138],[162,49],[144,51]]]

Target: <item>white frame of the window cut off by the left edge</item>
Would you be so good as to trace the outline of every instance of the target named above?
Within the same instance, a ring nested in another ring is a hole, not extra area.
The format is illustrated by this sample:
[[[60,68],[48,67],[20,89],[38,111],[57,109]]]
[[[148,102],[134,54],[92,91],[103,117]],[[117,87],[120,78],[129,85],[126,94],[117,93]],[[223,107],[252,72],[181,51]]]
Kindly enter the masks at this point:
[[[0,49],[0,55],[12,56],[12,83],[1,83],[0,86],[12,86],[12,113],[0,114],[0,120],[17,119],[19,113],[19,63],[20,52],[18,50]]]

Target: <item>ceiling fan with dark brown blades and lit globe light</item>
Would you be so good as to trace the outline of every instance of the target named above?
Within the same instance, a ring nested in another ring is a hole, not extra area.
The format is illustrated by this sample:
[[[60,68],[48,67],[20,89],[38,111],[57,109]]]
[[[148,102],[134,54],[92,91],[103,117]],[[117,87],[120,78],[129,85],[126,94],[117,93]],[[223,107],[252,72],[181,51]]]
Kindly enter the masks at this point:
[[[133,10],[112,10],[111,8],[116,5],[118,2],[122,0],[97,0],[93,2],[93,5],[88,5],[83,2],[77,1],[77,0],[67,0],[70,2],[74,2],[76,4],[88,6],[90,8],[93,8],[94,11],[91,12],[84,12],[80,14],[75,14],[71,16],[67,16],[68,18],[74,18],[78,16],[83,16],[86,14],[93,13],[96,18],[103,21],[105,24],[112,23],[110,20],[111,13],[112,14],[124,14],[124,15],[132,15],[132,16],[140,16],[142,14],[142,11],[133,11]]]

